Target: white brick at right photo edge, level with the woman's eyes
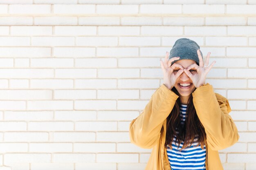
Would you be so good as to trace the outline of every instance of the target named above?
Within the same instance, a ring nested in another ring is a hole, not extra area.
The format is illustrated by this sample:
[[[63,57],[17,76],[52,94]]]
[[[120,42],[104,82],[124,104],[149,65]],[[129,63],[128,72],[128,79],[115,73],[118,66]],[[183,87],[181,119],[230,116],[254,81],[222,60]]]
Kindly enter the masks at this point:
[[[228,77],[230,78],[255,78],[254,68],[228,68]]]

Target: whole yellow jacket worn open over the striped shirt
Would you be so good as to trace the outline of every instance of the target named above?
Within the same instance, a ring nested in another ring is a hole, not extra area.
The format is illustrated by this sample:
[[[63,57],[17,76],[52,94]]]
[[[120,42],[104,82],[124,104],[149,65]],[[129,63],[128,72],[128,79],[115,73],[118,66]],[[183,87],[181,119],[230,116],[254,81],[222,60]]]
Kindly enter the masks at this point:
[[[235,144],[238,131],[230,117],[228,100],[214,93],[210,84],[204,84],[192,93],[196,113],[204,126],[206,169],[223,170],[218,150]],[[151,96],[143,112],[130,123],[131,143],[141,148],[153,148],[145,170],[171,170],[166,148],[166,118],[179,96],[162,84]]]

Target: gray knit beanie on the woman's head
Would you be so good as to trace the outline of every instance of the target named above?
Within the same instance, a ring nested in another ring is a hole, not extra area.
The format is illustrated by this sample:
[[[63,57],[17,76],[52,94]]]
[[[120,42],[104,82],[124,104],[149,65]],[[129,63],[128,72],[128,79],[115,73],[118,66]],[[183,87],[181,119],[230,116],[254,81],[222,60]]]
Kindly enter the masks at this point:
[[[168,59],[172,57],[180,57],[179,60],[182,60],[182,59],[194,60],[196,64],[199,65],[199,58],[197,53],[198,49],[200,49],[200,46],[195,41],[190,40],[188,38],[180,38],[173,45],[173,48],[170,51],[170,55]],[[203,57],[201,50],[200,50],[200,53]],[[172,64],[177,61],[178,60],[175,60],[174,62],[172,62]]]

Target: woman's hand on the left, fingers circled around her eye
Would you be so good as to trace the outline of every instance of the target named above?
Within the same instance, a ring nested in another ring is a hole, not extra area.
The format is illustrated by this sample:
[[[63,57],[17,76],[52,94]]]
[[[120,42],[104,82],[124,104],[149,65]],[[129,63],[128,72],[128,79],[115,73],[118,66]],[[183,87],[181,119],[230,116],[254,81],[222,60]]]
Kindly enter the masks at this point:
[[[173,57],[170,60],[168,60],[168,57],[169,53],[166,52],[164,62],[160,59],[160,64],[164,74],[164,85],[171,90],[175,85],[177,78],[184,72],[184,69],[182,65],[177,63],[173,63],[171,66],[171,63],[175,60],[179,60],[180,57]]]

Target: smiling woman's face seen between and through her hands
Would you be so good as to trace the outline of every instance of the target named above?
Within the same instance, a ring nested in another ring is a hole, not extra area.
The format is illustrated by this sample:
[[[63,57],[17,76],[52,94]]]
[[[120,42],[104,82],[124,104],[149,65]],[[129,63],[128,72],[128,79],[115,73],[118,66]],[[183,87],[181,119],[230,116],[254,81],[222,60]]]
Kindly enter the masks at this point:
[[[178,60],[175,63],[182,65],[184,68],[187,68],[191,64],[194,64],[195,61],[184,59],[184,60]],[[173,73],[176,74],[179,69],[180,68],[175,68]],[[195,68],[191,68],[190,73],[197,74],[197,71],[195,70]],[[176,81],[174,87],[180,93],[181,97],[189,96],[195,90],[195,86],[194,86],[192,80],[189,78],[188,75],[186,75],[185,72],[183,72],[180,75],[180,77],[177,78],[177,81]]]

